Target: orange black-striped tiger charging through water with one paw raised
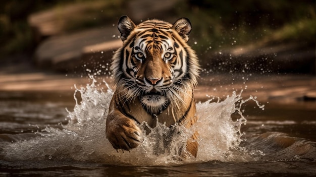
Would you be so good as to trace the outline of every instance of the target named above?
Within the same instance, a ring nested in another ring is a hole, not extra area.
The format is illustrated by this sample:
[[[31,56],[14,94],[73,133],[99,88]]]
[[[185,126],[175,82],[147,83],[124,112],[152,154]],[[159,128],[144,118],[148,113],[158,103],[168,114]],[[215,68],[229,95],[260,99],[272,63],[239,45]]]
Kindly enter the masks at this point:
[[[157,19],[138,25],[122,16],[118,29],[123,45],[113,55],[111,72],[116,87],[106,119],[106,137],[117,151],[130,151],[142,143],[139,125],[157,122],[189,129],[197,122],[193,89],[200,65],[187,44],[192,26],[187,18],[173,25]],[[197,156],[198,132],[184,145]]]

